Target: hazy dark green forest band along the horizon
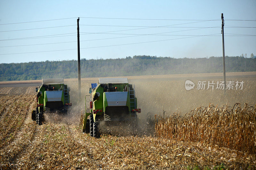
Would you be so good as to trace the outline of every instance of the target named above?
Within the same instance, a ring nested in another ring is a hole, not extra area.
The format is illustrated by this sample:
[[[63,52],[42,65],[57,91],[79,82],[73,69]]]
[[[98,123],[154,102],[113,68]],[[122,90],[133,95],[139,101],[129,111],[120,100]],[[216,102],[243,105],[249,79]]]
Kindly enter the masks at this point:
[[[256,71],[256,59],[225,57],[226,72]],[[81,59],[81,77],[222,72],[222,57],[171,58],[146,55],[118,59]],[[0,64],[0,81],[77,78],[77,60]]]

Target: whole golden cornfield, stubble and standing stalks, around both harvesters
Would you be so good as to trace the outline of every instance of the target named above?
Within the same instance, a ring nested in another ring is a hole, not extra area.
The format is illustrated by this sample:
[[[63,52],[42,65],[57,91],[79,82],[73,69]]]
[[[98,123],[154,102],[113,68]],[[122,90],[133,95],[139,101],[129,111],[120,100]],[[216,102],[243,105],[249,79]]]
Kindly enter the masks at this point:
[[[156,127],[156,133],[102,134],[99,139],[79,128],[85,105],[84,99],[76,101],[75,81],[65,81],[71,88],[71,112],[64,117],[46,115],[41,126],[31,121],[35,87],[0,88],[0,167],[255,169],[256,80],[237,80],[244,81],[244,90],[227,91],[224,97],[218,89],[186,91],[184,80],[131,79],[142,109],[140,118],[151,116],[153,122],[156,114],[164,119],[159,117],[156,126],[151,126],[153,130]],[[82,80],[83,96],[94,82],[96,78]],[[222,108],[227,102],[228,106]],[[235,103],[241,103],[241,107],[233,109]],[[170,117],[174,112],[180,117]]]

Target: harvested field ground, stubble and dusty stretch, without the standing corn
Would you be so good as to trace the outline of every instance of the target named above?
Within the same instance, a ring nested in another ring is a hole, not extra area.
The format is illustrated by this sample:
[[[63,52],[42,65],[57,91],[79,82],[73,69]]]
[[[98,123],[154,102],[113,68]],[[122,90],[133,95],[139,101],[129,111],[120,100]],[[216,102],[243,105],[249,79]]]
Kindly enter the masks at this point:
[[[82,80],[82,96],[89,95],[90,83],[97,83],[97,80]],[[218,79],[210,77],[208,80]],[[218,89],[186,91],[185,80],[128,79],[135,84],[138,107],[142,109],[140,120],[151,116],[151,121],[155,114],[162,117],[174,112],[185,114],[209,103],[220,106],[227,103],[233,106],[238,102],[255,104],[256,80],[239,77],[232,81],[236,80],[244,81],[244,89],[230,90],[223,96],[223,91]],[[0,88],[1,169],[256,168],[255,154],[205,142],[156,137],[154,132],[103,133],[99,139],[92,138],[79,127],[85,99],[77,101],[77,82],[65,83],[71,88],[72,110],[64,116],[45,114],[41,126],[31,120],[31,110],[36,106],[34,87]],[[88,101],[89,96],[86,97]],[[154,131],[154,126],[151,128]]]

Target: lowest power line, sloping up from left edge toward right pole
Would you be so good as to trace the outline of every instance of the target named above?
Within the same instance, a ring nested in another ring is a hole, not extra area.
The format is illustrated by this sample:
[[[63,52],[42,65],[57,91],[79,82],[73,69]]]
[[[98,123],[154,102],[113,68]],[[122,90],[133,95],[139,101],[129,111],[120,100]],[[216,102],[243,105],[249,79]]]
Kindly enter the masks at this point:
[[[209,35],[216,35],[216,34],[209,34]],[[209,36],[209,35],[200,35],[200,36],[193,36],[193,37],[202,37],[202,36]],[[176,38],[176,39],[186,39],[186,38],[193,38],[193,37],[183,37],[183,38]],[[159,41],[168,41],[168,40],[175,40],[175,39],[164,39],[164,40],[147,41],[147,42],[138,42],[138,43],[129,43],[129,44],[118,44],[118,45],[110,45],[110,46],[124,46],[124,45],[142,44],[142,43],[159,42]],[[80,48],[80,49],[100,48],[100,47],[109,47],[109,46],[86,47],[86,48]],[[37,51],[37,52],[25,52],[25,53],[43,53],[43,52],[67,51],[67,50],[77,50],[77,49],[76,49],[76,48],[73,48],[73,49],[64,49],[64,50]],[[8,54],[0,54],[0,55],[25,54],[25,53],[8,53]]]

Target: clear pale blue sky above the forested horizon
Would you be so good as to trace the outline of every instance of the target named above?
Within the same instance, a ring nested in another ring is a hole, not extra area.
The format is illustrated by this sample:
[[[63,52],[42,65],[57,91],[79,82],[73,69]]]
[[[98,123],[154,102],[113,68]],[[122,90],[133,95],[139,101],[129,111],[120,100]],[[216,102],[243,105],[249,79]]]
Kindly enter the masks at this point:
[[[80,18],[81,58],[108,59],[133,55],[169,56],[174,58],[222,56],[221,13],[224,14],[225,20],[225,54],[237,56],[247,53],[247,57],[250,57],[251,53],[255,55],[255,36],[234,35],[256,35],[256,28],[230,28],[230,26],[256,27],[256,21],[228,20],[256,20],[255,0],[74,2],[2,0],[0,1],[0,54],[4,55],[0,55],[0,63],[77,60],[77,17],[92,17]],[[60,18],[70,19],[30,22]],[[103,18],[140,18],[140,20]],[[180,20],[141,20],[143,18]],[[18,22],[30,23],[9,24]],[[166,25],[169,25],[169,27],[159,27]],[[46,38],[47,35],[52,36]],[[40,51],[53,52],[30,53]]]

